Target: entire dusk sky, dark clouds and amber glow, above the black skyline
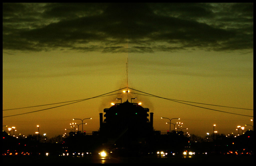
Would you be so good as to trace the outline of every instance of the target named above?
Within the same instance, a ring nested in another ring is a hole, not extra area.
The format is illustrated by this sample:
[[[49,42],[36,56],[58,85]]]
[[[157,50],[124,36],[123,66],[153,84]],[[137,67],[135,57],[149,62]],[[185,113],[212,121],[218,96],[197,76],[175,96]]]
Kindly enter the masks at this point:
[[[92,117],[84,130],[98,131],[99,113],[127,94],[17,116],[62,104],[5,109],[127,87],[127,62],[130,88],[253,109],[253,3],[3,3],[3,125],[25,135],[40,125],[40,133],[53,137],[70,129],[73,118]],[[129,101],[134,97],[154,113],[154,129],[161,132],[169,125],[160,117],[180,118],[172,123],[183,122],[199,136],[212,133],[213,124],[225,134],[253,125],[253,110],[189,103],[220,112],[136,94]]]

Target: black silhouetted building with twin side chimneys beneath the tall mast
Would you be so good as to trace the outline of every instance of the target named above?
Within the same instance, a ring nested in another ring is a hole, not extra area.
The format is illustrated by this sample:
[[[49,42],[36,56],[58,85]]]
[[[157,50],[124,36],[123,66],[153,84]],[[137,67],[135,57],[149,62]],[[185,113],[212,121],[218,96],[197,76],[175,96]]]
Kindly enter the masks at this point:
[[[153,134],[153,113],[148,119],[148,108],[138,103],[116,103],[105,108],[105,119],[100,113],[99,134],[108,140],[108,143],[132,144],[143,143]]]

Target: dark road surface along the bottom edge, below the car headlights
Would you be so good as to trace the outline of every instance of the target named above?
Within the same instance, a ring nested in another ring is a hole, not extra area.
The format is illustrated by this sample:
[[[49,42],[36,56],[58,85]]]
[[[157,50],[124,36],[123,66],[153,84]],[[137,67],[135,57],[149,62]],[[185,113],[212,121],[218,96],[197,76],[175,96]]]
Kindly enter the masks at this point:
[[[140,157],[100,158],[64,156],[3,156],[3,163],[253,163],[253,155],[205,155],[193,157]]]

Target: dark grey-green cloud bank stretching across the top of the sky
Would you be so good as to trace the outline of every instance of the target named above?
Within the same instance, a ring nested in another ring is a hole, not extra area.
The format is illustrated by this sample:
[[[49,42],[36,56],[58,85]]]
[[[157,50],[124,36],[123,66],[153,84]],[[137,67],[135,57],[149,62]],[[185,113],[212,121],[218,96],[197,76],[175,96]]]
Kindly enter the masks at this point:
[[[3,49],[60,48],[148,53],[252,49],[253,4],[3,4]]]

